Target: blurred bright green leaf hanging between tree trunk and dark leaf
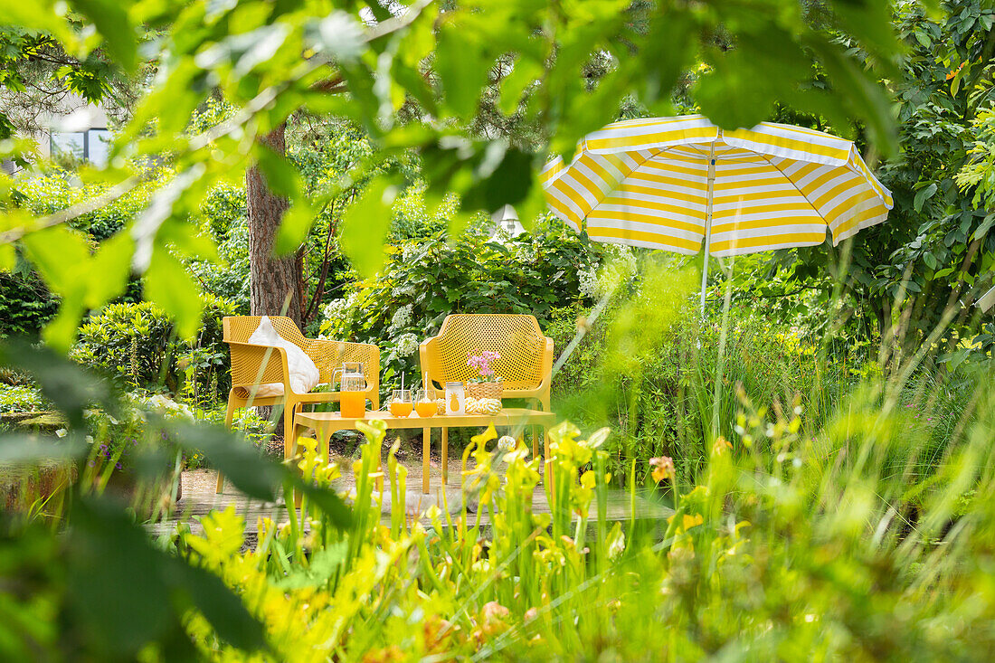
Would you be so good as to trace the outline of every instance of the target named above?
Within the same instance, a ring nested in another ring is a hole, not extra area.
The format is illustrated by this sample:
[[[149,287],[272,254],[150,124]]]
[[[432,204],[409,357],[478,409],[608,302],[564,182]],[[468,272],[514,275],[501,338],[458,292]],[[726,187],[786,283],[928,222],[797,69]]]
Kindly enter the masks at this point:
[[[365,279],[372,279],[383,266],[386,257],[383,244],[396,195],[397,188],[389,177],[377,177],[342,218],[339,230],[342,252]]]

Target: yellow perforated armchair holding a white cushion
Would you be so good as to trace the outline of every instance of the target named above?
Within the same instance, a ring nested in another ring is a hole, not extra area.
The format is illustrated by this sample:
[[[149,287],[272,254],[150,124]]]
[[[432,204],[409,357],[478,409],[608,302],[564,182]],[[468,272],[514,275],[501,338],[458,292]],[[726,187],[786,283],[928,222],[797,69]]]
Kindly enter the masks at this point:
[[[231,427],[235,410],[241,407],[284,406],[284,456],[294,455],[294,414],[304,405],[338,400],[338,391],[296,393],[291,388],[287,368],[287,351],[280,347],[256,345],[249,337],[259,327],[259,316],[232,316],[222,320],[224,340],[232,356],[232,390],[228,392],[225,425]],[[330,383],[332,371],[343,361],[360,361],[366,374],[366,398],[373,409],[380,409],[380,349],[370,343],[352,343],[325,338],[305,338],[290,318],[270,316],[270,322],[282,338],[298,345],[311,358],[320,372],[320,383]],[[282,383],[284,393],[277,396],[257,396],[260,384]],[[220,493],[224,477],[218,473]]]

